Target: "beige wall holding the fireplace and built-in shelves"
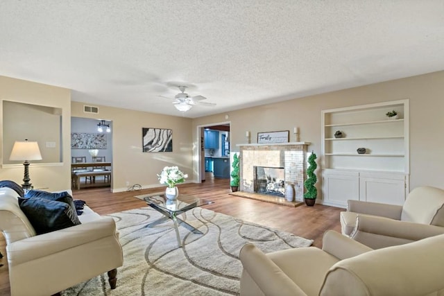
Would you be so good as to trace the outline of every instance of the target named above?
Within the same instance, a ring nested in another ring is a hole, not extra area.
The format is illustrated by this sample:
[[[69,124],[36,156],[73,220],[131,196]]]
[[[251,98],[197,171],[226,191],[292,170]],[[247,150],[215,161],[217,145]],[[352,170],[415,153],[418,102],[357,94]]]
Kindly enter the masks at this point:
[[[246,130],[252,134],[252,143],[257,132],[273,130],[290,130],[290,141],[294,141],[293,127],[298,126],[300,140],[311,142],[308,150],[321,156],[321,110],[409,98],[410,189],[426,184],[444,188],[443,94],[444,71],[440,71],[201,117],[193,120],[193,139],[196,147],[196,126],[226,121],[228,114],[232,151],[239,151],[236,144],[246,143]]]

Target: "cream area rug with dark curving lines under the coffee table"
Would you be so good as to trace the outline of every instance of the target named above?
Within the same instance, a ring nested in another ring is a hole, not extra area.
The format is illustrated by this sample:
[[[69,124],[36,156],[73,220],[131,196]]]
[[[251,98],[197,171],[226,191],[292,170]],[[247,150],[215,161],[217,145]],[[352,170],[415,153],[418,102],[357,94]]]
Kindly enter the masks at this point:
[[[116,220],[123,247],[117,288],[110,290],[105,273],[62,295],[239,295],[239,251],[244,244],[273,252],[312,243],[198,207],[180,217],[203,234],[179,227],[183,247],[178,247],[172,221],[145,227],[162,216],[149,207],[109,216]]]

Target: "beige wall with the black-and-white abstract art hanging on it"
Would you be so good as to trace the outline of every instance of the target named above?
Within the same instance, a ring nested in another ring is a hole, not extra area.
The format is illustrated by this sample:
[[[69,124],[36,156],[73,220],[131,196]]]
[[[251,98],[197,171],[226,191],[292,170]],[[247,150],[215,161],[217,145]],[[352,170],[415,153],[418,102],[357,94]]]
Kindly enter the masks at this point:
[[[83,112],[85,103],[72,102],[71,116],[112,121],[112,190],[125,191],[130,185],[162,186],[157,174],[164,166],[179,166],[194,181],[191,119],[135,110],[99,106],[99,114]],[[86,104],[91,105],[91,104]],[[142,128],[173,130],[172,153],[143,153]]]

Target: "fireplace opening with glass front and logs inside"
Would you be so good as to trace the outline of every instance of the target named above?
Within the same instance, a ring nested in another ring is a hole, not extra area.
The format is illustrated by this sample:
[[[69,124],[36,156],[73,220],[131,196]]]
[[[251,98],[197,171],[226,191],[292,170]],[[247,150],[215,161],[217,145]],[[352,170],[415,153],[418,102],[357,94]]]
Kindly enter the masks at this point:
[[[255,166],[253,180],[255,193],[285,196],[285,170],[284,168],[272,168]]]

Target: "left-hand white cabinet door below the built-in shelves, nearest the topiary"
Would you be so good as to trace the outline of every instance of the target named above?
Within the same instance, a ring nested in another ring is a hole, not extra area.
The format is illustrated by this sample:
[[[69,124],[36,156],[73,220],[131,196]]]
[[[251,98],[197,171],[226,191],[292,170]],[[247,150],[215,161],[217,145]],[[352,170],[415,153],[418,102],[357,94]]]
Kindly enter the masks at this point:
[[[347,207],[347,200],[359,200],[359,173],[349,171],[323,172],[324,204]]]

